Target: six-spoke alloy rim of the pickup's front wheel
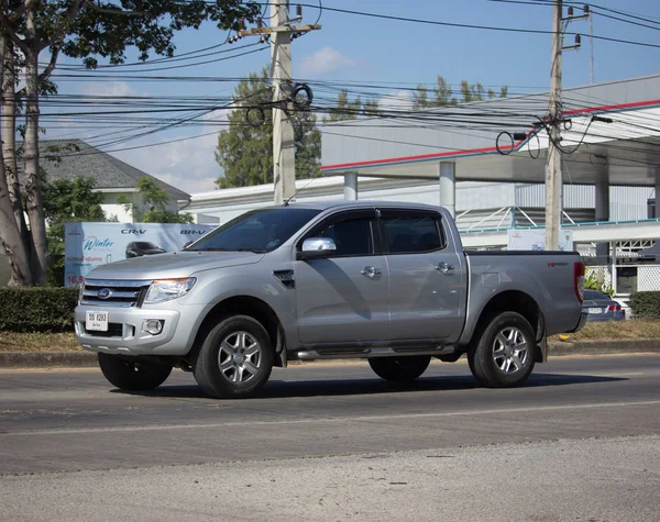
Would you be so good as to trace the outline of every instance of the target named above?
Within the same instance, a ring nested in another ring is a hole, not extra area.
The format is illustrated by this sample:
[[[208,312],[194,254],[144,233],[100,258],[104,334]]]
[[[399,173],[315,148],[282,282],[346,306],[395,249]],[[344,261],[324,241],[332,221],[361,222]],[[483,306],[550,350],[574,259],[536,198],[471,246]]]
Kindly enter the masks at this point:
[[[258,341],[248,332],[232,332],[220,344],[218,366],[220,375],[233,385],[256,377],[262,363]]]

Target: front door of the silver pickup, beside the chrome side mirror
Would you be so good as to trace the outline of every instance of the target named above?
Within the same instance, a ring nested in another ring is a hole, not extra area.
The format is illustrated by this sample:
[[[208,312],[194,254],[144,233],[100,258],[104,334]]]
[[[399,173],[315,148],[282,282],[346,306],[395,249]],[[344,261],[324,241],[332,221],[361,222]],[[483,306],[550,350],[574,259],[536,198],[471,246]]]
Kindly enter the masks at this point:
[[[308,237],[330,237],[327,258],[295,262],[298,332],[304,344],[361,344],[389,336],[388,273],[378,253],[375,210],[339,212]]]

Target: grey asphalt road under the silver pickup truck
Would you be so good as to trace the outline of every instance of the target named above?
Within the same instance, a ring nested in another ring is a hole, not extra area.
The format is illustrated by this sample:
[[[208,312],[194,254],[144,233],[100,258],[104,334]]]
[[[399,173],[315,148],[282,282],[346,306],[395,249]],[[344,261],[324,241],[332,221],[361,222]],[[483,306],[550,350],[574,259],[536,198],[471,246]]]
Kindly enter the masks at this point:
[[[463,362],[408,386],[307,365],[250,400],[182,371],[140,395],[0,373],[2,521],[657,522],[659,470],[658,355],[556,358],[507,390]]]

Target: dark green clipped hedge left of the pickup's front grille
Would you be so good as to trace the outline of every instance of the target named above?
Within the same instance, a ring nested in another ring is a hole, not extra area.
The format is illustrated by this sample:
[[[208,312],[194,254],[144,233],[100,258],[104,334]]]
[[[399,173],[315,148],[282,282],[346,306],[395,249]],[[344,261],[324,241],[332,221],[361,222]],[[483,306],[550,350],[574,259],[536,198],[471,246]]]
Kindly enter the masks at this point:
[[[0,288],[0,330],[73,332],[78,288]]]

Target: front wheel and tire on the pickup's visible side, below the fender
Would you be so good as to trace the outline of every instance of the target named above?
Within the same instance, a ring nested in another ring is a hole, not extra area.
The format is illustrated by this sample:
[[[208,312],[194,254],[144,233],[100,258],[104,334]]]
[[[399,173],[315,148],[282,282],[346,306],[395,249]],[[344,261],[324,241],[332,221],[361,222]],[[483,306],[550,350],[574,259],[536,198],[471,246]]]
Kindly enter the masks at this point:
[[[248,315],[221,320],[206,336],[195,379],[205,393],[219,399],[253,396],[273,370],[274,348],[261,323]]]

